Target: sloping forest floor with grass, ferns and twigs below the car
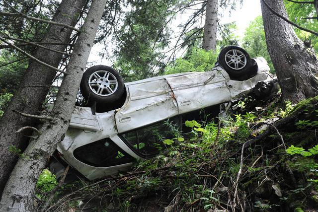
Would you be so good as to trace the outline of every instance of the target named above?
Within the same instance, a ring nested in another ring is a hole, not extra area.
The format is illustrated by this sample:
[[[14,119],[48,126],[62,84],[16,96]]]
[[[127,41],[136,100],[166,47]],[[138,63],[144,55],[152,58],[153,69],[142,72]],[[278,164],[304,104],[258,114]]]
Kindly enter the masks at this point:
[[[63,186],[49,211],[318,211],[318,97],[246,97],[220,117],[188,120],[190,135],[130,173]]]

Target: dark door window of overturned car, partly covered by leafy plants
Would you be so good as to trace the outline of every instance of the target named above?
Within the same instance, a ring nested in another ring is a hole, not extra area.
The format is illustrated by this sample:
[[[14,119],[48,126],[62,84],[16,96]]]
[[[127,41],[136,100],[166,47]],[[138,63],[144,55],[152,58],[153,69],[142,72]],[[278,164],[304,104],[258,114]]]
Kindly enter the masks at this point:
[[[165,139],[176,137],[178,126],[178,118],[175,117],[136,131],[124,133],[121,137],[138,154],[147,158],[158,153],[164,147],[163,141]]]

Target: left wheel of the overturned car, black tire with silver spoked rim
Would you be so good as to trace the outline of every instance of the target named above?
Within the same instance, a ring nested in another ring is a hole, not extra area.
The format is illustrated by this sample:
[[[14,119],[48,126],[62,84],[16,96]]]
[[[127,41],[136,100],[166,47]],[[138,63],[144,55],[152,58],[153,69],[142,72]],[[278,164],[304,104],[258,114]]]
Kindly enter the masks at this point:
[[[97,102],[98,105],[114,104],[122,98],[125,84],[114,69],[108,66],[93,66],[84,72],[80,91],[87,102]]]

